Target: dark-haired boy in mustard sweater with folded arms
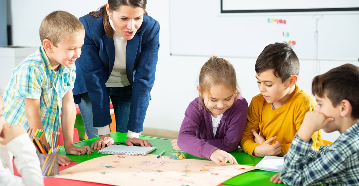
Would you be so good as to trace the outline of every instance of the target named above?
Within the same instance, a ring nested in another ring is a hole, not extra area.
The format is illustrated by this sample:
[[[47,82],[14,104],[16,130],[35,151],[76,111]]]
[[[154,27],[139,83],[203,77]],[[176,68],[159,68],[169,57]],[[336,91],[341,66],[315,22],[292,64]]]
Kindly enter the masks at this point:
[[[252,98],[248,107],[240,146],[252,156],[283,156],[304,114],[314,111],[316,102],[296,85],[299,60],[288,43],[266,46],[257,58],[255,70],[261,93]],[[312,148],[318,150],[323,145],[321,132],[314,132],[312,139]]]

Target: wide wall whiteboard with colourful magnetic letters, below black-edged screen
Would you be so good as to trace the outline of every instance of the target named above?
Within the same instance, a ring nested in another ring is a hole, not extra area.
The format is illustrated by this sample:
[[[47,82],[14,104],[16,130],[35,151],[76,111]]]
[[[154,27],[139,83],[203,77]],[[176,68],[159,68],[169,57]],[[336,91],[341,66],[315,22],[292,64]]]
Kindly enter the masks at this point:
[[[287,41],[300,59],[359,59],[359,11],[224,14],[218,0],[169,6],[171,55],[256,58]]]

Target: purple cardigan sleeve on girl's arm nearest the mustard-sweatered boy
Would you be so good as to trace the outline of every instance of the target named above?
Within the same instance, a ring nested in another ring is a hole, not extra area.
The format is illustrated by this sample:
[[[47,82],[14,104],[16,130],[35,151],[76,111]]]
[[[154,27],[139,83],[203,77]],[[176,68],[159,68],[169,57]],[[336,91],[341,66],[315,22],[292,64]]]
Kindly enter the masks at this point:
[[[224,138],[207,139],[206,142],[226,152],[234,151],[239,145],[244,127],[246,126],[247,112],[248,103],[246,100],[238,100],[233,105],[228,122],[226,123],[228,127],[227,131],[225,131]]]

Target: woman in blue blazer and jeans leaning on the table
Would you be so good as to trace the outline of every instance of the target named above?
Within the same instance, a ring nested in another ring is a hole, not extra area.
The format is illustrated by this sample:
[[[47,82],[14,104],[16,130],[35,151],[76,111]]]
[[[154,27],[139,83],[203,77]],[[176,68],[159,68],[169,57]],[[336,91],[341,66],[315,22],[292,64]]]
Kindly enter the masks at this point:
[[[147,15],[146,0],[108,0],[97,12],[80,18],[85,28],[76,62],[73,89],[91,148],[114,143],[110,137],[109,98],[117,132],[127,145],[151,146],[139,139],[149,104],[159,49],[159,23]]]

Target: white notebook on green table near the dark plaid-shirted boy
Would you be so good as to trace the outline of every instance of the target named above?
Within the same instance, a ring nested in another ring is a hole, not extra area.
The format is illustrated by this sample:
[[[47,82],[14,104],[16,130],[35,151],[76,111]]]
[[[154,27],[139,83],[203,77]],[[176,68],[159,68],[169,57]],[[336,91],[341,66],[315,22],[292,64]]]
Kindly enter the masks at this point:
[[[284,164],[284,158],[279,156],[265,156],[256,168],[264,171],[281,172]]]

